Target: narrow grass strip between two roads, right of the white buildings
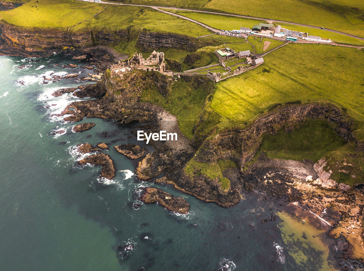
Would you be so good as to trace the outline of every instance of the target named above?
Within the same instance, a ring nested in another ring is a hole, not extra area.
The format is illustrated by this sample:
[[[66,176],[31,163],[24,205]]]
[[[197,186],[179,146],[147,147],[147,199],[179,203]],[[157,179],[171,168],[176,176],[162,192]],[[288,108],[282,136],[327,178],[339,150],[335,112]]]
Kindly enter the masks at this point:
[[[278,25],[276,23],[276,25]],[[289,30],[293,31],[299,31],[304,33],[309,33],[309,35],[312,36],[319,36],[323,39],[331,39],[333,42],[336,43],[343,43],[343,44],[351,44],[356,46],[364,46],[364,40],[355,39],[352,37],[348,37],[342,34],[337,34],[329,31],[325,31],[323,29],[317,29],[317,28],[311,28],[311,27],[305,27],[301,25],[294,25],[294,24],[281,24],[281,27],[284,27]]]

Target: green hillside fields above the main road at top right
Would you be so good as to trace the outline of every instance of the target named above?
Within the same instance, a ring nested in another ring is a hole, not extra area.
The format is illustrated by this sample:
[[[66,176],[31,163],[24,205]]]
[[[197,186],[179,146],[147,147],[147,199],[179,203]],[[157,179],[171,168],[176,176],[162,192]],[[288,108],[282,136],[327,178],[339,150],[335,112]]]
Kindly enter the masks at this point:
[[[359,0],[237,0],[233,4],[223,4],[219,0],[124,0],[123,2],[192,8],[283,20],[364,36],[362,17],[364,8]]]

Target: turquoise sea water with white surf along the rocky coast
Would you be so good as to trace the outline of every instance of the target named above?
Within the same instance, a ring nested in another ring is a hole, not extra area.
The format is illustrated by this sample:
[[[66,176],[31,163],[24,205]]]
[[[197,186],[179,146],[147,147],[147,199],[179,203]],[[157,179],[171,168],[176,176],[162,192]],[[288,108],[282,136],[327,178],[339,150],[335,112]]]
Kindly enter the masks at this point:
[[[62,67],[68,63],[79,66]],[[132,126],[83,119],[96,126],[76,134],[71,131],[73,124],[51,116],[76,98],[50,94],[82,82],[62,79],[44,85],[43,76],[48,78],[52,72],[86,76],[90,72],[82,68],[86,63],[67,56],[1,56],[0,64],[0,271],[319,270],[327,266],[323,253],[327,248],[301,239],[305,229],[300,227],[292,237],[292,230],[283,231],[275,203],[247,193],[240,204],[224,209],[167,185],[140,182],[132,175],[135,162],[112,148],[136,143]],[[20,65],[32,66],[20,70]],[[53,130],[66,132],[52,136]],[[100,183],[97,166],[76,165],[80,157],[73,147],[85,142],[110,144],[106,152],[117,171],[113,181]],[[135,208],[141,204],[139,186],[151,185],[185,197],[189,214],[177,215],[157,204]],[[274,215],[275,220],[262,223]],[[291,222],[293,229],[294,223],[303,224]],[[305,227],[309,232],[310,226]],[[116,248],[126,244],[134,249],[121,257]],[[297,251],[304,253],[304,261],[294,258]]]

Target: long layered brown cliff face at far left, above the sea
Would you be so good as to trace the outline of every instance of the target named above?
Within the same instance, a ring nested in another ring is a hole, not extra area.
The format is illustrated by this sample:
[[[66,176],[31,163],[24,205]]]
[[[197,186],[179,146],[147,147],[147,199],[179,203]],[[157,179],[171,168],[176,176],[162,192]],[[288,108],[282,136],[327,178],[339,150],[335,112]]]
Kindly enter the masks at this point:
[[[0,39],[8,46],[22,51],[36,52],[49,49],[76,47],[85,48],[97,44],[110,45],[128,39],[126,30],[107,32],[103,30],[85,30],[68,32],[67,29],[21,28],[0,23]]]

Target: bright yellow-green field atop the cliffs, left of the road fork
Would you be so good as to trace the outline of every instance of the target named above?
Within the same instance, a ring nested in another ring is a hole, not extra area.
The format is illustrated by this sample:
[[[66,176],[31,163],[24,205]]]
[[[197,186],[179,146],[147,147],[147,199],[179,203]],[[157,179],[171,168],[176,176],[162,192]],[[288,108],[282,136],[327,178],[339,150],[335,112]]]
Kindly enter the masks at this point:
[[[191,37],[211,33],[190,21],[150,8],[109,5],[103,10],[105,6],[69,0],[38,0],[38,3],[33,0],[19,8],[1,11],[0,19],[20,27],[71,27],[71,31],[90,28],[118,30],[134,27],[140,30],[173,32]],[[101,10],[102,12],[94,16]],[[72,27],[72,25],[76,26]]]

